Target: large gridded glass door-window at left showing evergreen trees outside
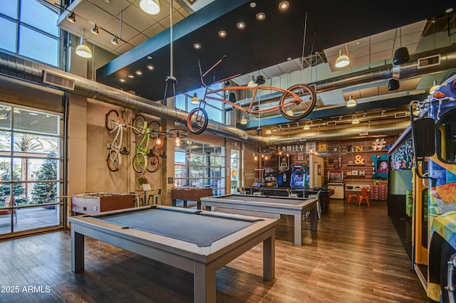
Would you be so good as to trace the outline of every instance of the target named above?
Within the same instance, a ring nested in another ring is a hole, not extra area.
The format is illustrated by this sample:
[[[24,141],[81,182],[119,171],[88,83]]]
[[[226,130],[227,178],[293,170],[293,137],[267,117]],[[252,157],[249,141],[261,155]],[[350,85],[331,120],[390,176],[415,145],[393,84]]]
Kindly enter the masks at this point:
[[[0,104],[0,237],[61,226],[63,117]]]

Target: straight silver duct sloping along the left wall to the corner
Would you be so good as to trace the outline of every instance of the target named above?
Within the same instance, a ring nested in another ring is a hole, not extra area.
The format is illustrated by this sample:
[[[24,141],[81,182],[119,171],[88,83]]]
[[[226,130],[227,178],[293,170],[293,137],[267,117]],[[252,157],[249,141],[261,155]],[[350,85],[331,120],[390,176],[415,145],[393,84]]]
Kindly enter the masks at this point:
[[[63,80],[72,80],[74,84],[73,89],[44,83],[44,73],[56,75]],[[181,112],[180,110],[163,106],[160,103],[152,102],[151,100],[132,95],[128,92],[118,90],[117,88],[110,87],[108,85],[103,85],[71,73],[66,73],[63,70],[52,68],[48,65],[36,63],[34,61],[19,58],[15,55],[3,52],[0,52],[0,75],[24,80],[37,85],[52,87],[57,90],[63,90],[82,97],[88,97],[93,100],[99,100],[112,105],[125,107],[148,115],[164,117],[165,119],[170,119],[185,125],[187,123],[186,112]],[[263,141],[261,136],[257,136],[255,134],[245,132],[242,129],[237,129],[212,120],[209,121],[207,132],[221,134],[225,137],[253,144],[261,143]]]

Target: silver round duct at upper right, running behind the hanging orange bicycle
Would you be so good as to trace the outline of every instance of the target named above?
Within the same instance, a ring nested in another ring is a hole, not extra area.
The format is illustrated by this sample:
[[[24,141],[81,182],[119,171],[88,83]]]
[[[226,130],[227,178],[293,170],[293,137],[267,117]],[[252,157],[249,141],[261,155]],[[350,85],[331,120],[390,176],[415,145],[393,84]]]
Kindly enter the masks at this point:
[[[440,55],[440,64],[429,65],[426,67],[418,68],[418,59],[432,57],[434,55]],[[377,68],[370,68],[368,70],[361,70],[355,73],[349,73],[341,75],[335,78],[328,78],[325,80],[316,81],[314,83],[308,83],[309,85],[315,85],[316,92],[326,92],[328,90],[337,90],[339,88],[360,85],[363,83],[371,83],[378,80],[385,80],[390,78],[404,79],[411,78],[418,75],[426,75],[429,73],[437,73],[443,70],[449,70],[456,66],[456,45],[445,46],[443,48],[437,48],[435,50],[427,50],[423,53],[416,53],[410,55],[408,63],[402,65],[386,64]],[[274,99],[280,97],[280,94],[271,94],[265,97],[261,97],[261,103],[271,102]],[[237,101],[237,105],[247,107],[250,105],[252,98],[246,98]],[[254,102],[258,104],[258,100]],[[230,105],[224,105],[225,110],[233,110]]]

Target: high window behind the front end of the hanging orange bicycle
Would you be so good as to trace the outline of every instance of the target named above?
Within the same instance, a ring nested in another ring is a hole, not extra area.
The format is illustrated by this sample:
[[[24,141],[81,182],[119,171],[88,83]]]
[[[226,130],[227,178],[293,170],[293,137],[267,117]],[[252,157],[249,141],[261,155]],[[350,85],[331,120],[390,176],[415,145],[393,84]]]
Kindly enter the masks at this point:
[[[212,85],[212,90],[218,90],[222,88],[222,83],[217,83]],[[204,88],[198,88],[197,90],[192,90],[191,92],[187,92],[185,94],[177,95],[176,96],[176,109],[183,110],[184,112],[190,112],[194,108],[198,107],[196,104],[192,104],[191,100],[193,94],[197,94],[199,99],[204,97]],[[219,96],[224,97],[224,96]],[[221,101],[214,101],[209,100],[204,108],[207,111],[207,116],[209,119],[212,119],[217,122],[225,123],[224,121],[224,103]]]

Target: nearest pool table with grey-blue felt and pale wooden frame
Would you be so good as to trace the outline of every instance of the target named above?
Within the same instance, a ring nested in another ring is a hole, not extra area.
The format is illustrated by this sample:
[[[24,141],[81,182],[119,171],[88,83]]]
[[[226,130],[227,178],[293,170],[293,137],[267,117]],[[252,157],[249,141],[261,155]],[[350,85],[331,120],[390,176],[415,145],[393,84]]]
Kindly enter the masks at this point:
[[[276,220],[144,206],[70,218],[71,270],[84,270],[84,236],[192,272],[195,302],[215,302],[215,272],[263,242],[263,277],[275,274]]]

